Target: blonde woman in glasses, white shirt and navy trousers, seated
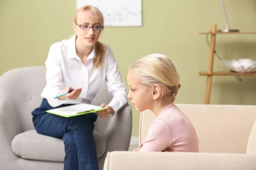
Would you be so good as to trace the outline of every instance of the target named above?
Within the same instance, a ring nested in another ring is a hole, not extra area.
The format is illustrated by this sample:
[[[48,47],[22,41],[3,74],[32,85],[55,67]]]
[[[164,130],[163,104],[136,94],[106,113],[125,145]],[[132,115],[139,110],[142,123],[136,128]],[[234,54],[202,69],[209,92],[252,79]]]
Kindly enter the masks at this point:
[[[40,107],[32,111],[33,123],[38,133],[64,140],[64,170],[98,170],[93,122],[97,115],[108,118],[122,108],[127,92],[110,47],[98,41],[103,30],[102,13],[93,6],[81,7],[76,11],[73,29],[75,35],[70,40],[55,42],[49,49],[47,85]],[[101,105],[107,110],[70,118],[46,113],[53,108],[90,103],[103,82],[113,94],[108,105]]]

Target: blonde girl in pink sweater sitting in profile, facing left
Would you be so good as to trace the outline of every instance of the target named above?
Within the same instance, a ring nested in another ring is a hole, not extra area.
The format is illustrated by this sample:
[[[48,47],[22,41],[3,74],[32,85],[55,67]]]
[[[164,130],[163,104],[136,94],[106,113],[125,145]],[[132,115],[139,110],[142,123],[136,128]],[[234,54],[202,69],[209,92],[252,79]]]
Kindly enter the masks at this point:
[[[150,109],[157,118],[134,151],[198,152],[198,136],[187,116],[173,103],[180,88],[175,65],[162,54],[134,62],[128,72],[128,99],[137,111]]]

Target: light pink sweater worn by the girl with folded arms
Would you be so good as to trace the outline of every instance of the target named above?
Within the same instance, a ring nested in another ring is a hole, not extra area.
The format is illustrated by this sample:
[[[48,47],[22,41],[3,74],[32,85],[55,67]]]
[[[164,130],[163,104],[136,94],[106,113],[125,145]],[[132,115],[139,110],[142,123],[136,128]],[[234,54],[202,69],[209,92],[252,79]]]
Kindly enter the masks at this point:
[[[150,125],[140,152],[199,152],[198,144],[192,123],[172,103]]]

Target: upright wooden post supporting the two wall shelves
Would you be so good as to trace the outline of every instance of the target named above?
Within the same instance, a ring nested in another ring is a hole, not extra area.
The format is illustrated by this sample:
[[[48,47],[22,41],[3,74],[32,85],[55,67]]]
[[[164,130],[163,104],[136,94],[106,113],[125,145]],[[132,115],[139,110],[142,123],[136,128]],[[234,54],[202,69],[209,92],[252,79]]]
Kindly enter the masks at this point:
[[[216,24],[212,25],[212,34],[211,34],[211,44],[209,51],[209,65],[208,65],[208,76],[207,76],[207,86],[206,86],[206,97],[205,104],[209,105],[210,102],[210,94],[211,94],[211,86],[212,86],[212,67],[213,67],[213,57],[215,50],[215,40],[216,40]]]

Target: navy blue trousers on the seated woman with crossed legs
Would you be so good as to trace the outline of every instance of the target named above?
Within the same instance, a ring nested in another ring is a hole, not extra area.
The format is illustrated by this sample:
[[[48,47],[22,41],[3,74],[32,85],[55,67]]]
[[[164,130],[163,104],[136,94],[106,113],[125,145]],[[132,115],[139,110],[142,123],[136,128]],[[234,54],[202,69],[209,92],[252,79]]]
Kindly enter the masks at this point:
[[[60,105],[60,108],[68,105]],[[57,116],[46,111],[53,109],[43,99],[39,108],[32,111],[35,130],[42,135],[62,138],[65,146],[64,170],[99,170],[96,145],[93,137],[95,113],[74,117]]]

